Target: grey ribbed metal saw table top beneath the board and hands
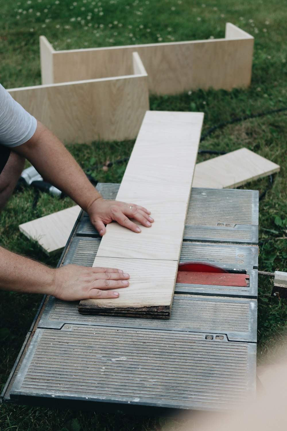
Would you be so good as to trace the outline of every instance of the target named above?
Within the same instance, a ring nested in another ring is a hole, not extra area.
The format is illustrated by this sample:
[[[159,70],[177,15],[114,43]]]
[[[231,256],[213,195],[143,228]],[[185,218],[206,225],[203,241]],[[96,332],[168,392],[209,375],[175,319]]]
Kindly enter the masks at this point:
[[[114,199],[119,184],[97,189]],[[81,212],[59,265],[92,266],[100,241]],[[176,284],[169,320],[80,315],[78,302],[46,297],[1,401],[176,415],[254,397],[257,244],[257,191],[193,188],[180,262],[248,274],[249,284]]]

